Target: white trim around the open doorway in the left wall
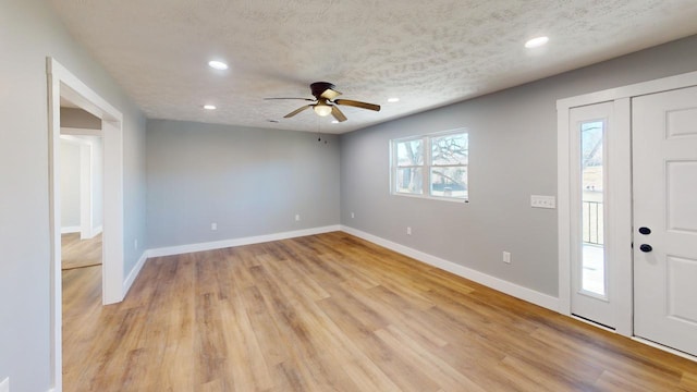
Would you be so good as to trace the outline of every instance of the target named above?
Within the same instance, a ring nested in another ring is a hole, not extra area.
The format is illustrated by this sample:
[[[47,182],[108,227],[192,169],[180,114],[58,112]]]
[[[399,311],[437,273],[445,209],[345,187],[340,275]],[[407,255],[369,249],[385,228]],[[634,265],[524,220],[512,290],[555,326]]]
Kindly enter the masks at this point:
[[[123,115],[97,93],[52,58],[47,58],[49,131],[49,225],[51,378],[53,390],[62,390],[62,283],[60,222],[60,99],[66,98],[81,109],[102,119],[103,228],[102,301],[123,299]]]

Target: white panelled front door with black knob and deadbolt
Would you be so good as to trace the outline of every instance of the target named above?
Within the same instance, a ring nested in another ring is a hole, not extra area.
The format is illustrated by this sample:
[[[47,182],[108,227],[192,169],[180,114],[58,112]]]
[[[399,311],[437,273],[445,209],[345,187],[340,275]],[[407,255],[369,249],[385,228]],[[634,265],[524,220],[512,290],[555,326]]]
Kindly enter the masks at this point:
[[[697,355],[697,87],[633,98],[634,334]]]

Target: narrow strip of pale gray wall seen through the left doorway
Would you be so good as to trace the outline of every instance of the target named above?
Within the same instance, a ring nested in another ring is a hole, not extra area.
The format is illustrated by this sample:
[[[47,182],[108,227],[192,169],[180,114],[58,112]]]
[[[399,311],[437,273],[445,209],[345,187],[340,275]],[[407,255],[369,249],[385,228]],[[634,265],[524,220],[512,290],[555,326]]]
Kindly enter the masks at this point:
[[[80,145],[61,140],[62,228],[80,228]]]

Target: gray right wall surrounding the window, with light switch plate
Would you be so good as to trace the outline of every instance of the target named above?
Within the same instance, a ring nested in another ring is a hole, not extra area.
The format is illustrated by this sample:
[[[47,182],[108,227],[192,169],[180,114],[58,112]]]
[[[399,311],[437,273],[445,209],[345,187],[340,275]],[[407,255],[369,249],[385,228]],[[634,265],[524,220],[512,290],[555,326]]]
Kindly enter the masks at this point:
[[[529,206],[531,194],[557,194],[557,99],[696,70],[697,37],[689,37],[344,134],[341,222],[557,296],[557,210]],[[389,194],[391,138],[463,126],[469,204]],[[501,261],[503,250],[512,253],[511,265]]]

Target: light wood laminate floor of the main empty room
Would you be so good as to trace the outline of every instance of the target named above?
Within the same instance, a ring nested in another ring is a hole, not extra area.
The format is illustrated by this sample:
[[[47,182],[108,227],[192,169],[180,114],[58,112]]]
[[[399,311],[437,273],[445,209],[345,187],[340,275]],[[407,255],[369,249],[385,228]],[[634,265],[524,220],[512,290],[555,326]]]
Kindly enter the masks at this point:
[[[697,391],[697,364],[342,232],[63,272],[64,391]]]

